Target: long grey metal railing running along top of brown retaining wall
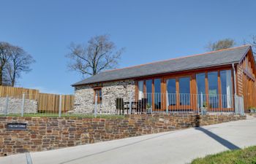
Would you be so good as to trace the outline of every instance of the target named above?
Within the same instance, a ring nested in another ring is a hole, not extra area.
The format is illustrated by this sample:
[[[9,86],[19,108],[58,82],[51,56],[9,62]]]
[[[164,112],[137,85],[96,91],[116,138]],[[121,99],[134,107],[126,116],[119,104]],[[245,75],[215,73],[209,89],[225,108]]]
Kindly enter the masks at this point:
[[[14,116],[120,116],[124,114],[244,114],[244,99],[238,95],[189,93],[140,93],[106,97],[95,95],[83,106],[67,104],[61,95],[0,97],[0,115]],[[71,101],[70,101],[71,103]],[[73,102],[72,102],[73,103]],[[78,109],[79,108],[79,109]]]

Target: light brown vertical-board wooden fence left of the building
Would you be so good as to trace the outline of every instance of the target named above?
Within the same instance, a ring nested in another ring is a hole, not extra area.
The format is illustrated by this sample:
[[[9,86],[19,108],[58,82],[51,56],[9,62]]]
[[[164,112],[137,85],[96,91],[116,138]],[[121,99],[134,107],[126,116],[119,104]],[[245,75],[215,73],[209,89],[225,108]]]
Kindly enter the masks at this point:
[[[38,112],[59,112],[60,95],[39,93],[39,90],[23,87],[0,86],[0,97],[22,98],[23,93],[26,99],[37,101]],[[74,95],[61,95],[61,112],[72,110],[74,105]]]

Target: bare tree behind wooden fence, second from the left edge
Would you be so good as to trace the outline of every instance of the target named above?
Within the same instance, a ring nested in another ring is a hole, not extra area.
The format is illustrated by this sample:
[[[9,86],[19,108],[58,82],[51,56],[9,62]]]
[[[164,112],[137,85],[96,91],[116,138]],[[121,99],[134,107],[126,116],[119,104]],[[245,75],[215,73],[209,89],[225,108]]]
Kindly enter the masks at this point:
[[[30,65],[35,60],[23,48],[18,46],[11,47],[10,60],[6,65],[7,79],[13,87],[17,82],[22,72],[28,73],[31,71]]]

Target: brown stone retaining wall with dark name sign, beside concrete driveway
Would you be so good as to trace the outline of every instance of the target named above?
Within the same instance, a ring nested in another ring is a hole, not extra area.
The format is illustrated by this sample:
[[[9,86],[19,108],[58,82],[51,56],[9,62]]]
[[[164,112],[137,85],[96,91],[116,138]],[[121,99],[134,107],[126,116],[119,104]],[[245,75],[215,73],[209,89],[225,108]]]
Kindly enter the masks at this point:
[[[0,156],[244,120],[241,115],[127,115],[116,118],[0,117]],[[7,123],[28,130],[6,130]],[[230,127],[232,128],[232,127]]]

